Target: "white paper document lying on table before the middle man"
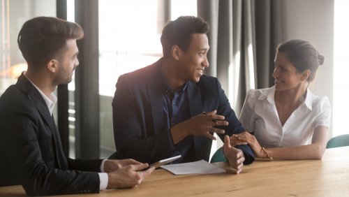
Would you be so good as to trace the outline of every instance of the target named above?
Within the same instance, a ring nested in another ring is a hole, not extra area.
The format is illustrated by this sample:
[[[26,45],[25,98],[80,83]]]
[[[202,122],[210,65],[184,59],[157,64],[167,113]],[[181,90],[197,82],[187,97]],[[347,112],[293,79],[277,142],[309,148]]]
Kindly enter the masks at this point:
[[[225,173],[225,170],[205,160],[161,166],[174,175]]]

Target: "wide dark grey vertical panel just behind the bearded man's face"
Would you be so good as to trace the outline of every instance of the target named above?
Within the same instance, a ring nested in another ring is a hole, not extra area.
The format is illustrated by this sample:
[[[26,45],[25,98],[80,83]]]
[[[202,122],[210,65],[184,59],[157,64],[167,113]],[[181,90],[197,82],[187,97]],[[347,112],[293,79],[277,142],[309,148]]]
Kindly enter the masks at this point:
[[[75,156],[80,159],[98,159],[98,1],[75,0],[75,21],[84,29],[84,38],[77,41],[80,64],[75,71]]]

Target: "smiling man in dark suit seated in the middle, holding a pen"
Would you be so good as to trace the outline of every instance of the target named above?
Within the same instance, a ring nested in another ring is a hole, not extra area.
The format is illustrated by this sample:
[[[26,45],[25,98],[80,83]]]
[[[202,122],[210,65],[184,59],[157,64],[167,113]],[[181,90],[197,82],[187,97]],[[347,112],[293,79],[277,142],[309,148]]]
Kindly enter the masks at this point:
[[[237,173],[253,162],[251,147],[230,146],[229,136],[245,129],[218,79],[203,75],[209,66],[207,31],[200,17],[169,22],[161,36],[163,58],[119,77],[112,101],[117,152],[111,158],[152,163],[181,154],[174,163],[208,161],[217,133]]]

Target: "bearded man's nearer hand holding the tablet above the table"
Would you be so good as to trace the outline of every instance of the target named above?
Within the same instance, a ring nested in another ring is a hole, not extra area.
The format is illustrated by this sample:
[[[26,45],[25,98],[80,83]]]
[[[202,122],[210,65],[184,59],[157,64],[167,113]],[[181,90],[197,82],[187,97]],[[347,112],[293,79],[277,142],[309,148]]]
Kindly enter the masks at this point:
[[[107,173],[107,189],[137,187],[138,184],[140,184],[142,180],[147,177],[147,175],[150,175],[154,171],[154,167],[141,171],[148,166],[148,163],[128,165],[121,167],[112,173]]]

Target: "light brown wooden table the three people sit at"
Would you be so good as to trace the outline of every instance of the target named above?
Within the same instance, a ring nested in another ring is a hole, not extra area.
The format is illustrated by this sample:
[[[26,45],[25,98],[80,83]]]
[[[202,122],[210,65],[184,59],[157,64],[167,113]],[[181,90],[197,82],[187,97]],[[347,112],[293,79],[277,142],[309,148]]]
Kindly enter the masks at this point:
[[[215,163],[229,168],[226,163]],[[21,186],[0,196],[25,196]],[[172,175],[155,170],[133,189],[66,196],[349,196],[349,147],[327,149],[322,161],[258,160],[239,175]]]

